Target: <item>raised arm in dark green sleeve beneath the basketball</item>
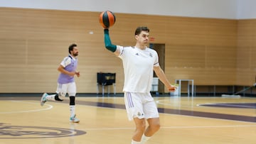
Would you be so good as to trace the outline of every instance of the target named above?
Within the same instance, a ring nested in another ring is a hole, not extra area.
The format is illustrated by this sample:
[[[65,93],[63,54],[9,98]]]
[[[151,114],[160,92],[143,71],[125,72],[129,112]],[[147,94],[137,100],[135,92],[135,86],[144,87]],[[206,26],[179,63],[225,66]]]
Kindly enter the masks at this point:
[[[111,43],[110,33],[108,29],[104,29],[104,41],[105,41],[105,48],[107,48],[107,50],[114,52],[114,55],[117,55],[117,56],[120,54],[119,47]]]

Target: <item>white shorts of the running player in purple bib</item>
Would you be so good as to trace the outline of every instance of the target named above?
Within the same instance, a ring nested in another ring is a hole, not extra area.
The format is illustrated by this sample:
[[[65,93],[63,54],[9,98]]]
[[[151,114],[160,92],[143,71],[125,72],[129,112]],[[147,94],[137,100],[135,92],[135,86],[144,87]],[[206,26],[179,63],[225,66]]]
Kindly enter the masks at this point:
[[[76,94],[75,82],[70,82],[68,84],[58,83],[56,93],[60,94],[60,96],[65,96],[67,93],[68,93],[68,96],[75,96]]]

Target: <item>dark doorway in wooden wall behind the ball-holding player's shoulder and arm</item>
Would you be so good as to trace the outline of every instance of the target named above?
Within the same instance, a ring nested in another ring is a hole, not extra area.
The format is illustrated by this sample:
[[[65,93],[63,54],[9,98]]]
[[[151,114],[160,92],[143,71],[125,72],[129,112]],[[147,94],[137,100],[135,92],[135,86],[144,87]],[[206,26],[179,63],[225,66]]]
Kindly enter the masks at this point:
[[[165,66],[165,44],[162,43],[149,43],[149,48],[156,50],[159,55],[159,65],[161,69],[164,70]],[[154,77],[157,77],[154,72]],[[159,94],[164,94],[164,84],[159,80]]]

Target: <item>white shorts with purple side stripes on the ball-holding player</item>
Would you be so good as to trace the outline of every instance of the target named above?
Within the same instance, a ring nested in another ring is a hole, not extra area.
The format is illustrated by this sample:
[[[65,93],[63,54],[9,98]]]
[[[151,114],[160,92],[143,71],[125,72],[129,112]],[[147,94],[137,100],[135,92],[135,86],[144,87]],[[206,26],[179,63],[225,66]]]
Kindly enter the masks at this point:
[[[129,121],[133,118],[159,118],[159,112],[150,93],[124,92]]]

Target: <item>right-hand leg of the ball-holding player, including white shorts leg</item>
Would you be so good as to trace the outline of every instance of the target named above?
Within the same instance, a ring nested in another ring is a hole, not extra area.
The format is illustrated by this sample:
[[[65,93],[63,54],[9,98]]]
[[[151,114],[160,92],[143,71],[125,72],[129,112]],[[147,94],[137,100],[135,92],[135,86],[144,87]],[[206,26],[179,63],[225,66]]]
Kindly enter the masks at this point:
[[[144,113],[149,126],[146,128],[146,131],[142,135],[142,144],[149,140],[149,138],[151,138],[151,136],[154,135],[156,131],[159,131],[160,128],[159,112],[157,110],[154,99],[150,94],[144,98]]]

